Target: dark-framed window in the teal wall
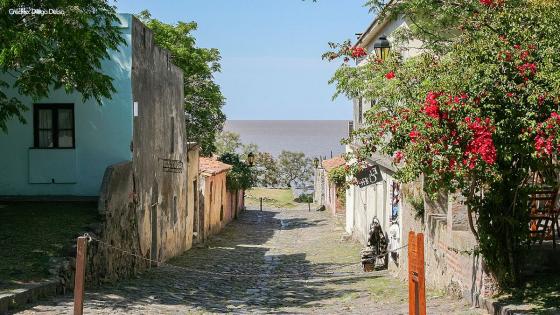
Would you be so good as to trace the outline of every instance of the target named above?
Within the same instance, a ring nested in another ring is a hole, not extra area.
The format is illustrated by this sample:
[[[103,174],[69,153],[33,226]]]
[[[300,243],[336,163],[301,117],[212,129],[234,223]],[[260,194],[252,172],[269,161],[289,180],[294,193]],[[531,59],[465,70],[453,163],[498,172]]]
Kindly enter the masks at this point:
[[[35,104],[34,147],[74,148],[74,104]]]

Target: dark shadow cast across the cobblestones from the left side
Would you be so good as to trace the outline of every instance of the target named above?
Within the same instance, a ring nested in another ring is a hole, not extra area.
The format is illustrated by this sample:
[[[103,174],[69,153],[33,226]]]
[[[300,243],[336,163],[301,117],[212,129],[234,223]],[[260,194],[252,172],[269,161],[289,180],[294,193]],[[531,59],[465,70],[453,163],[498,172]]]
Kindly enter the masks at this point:
[[[282,308],[313,308],[330,298],[357,292],[337,289],[363,276],[332,277],[341,264],[311,263],[307,253],[274,254],[267,242],[276,233],[325,225],[325,220],[280,219],[279,212],[243,212],[237,221],[195,248],[139,279],[100,288],[87,295],[91,311],[138,309],[138,305],[188,305],[201,312],[282,313]],[[318,273],[318,274],[317,274]],[[372,279],[375,275],[369,275]]]

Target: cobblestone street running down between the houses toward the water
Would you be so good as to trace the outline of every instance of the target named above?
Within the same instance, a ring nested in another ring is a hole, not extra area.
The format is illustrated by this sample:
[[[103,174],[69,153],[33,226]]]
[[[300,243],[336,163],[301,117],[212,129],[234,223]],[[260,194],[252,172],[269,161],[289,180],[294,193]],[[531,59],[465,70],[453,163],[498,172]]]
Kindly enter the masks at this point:
[[[360,246],[325,212],[245,211],[203,248],[135,279],[88,290],[86,314],[406,314],[408,290],[386,271],[363,273]],[[196,271],[194,271],[196,270]],[[428,314],[480,314],[428,291]],[[71,297],[22,314],[68,314]]]

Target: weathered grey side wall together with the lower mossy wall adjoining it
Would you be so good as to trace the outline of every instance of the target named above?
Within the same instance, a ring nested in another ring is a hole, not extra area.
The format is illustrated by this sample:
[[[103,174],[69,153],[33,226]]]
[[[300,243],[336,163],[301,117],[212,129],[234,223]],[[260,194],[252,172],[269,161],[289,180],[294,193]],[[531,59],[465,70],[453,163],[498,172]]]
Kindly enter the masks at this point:
[[[91,231],[101,242],[89,245],[89,283],[128,277],[148,268],[146,259],[165,261],[192,246],[198,149],[186,142],[183,74],[134,17],[131,79],[132,161],[105,172],[102,222]]]

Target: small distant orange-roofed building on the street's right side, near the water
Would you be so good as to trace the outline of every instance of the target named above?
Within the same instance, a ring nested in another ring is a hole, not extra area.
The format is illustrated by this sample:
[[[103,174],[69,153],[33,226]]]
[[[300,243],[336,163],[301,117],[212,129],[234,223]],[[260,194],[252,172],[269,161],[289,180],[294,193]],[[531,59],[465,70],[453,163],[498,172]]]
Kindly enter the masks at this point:
[[[329,172],[343,167],[346,160],[342,156],[323,160],[320,167],[315,170],[315,192],[313,194],[313,202],[322,206],[332,214],[344,214],[345,203],[344,197],[341,196],[341,187],[329,179]]]

